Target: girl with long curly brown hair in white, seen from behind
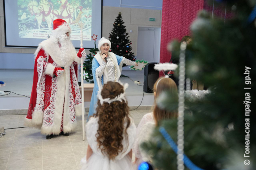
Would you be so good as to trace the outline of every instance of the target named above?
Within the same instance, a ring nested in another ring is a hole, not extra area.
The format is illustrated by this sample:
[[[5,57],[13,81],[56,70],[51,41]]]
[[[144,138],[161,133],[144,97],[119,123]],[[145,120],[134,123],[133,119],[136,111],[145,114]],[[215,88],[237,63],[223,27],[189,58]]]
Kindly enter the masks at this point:
[[[124,86],[107,82],[98,92],[96,115],[86,124],[88,148],[82,169],[132,170],[136,126],[129,116]]]

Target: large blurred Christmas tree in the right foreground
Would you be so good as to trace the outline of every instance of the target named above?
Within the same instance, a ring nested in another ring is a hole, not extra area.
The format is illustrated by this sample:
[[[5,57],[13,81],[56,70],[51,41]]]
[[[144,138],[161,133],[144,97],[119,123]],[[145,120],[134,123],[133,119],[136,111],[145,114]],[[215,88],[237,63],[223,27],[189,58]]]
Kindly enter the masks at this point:
[[[212,13],[201,11],[191,25],[186,75],[203,82],[211,93],[185,100],[184,154],[205,170],[255,170],[256,1],[215,0],[214,6],[218,4],[230,9],[232,17],[212,18]],[[172,42],[171,47],[172,54],[179,54],[179,42]],[[169,110],[178,107],[168,92],[157,103]],[[177,144],[177,119],[160,127]],[[177,155],[160,127],[142,147],[155,168],[177,169]]]

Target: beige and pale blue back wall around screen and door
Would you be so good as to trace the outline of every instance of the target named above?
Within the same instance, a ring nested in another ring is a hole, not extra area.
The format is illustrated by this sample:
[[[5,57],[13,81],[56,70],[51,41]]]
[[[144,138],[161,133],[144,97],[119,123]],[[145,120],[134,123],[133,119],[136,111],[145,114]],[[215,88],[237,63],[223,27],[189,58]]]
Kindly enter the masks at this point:
[[[116,0],[115,0],[116,1]],[[150,0],[151,5],[156,4],[156,1]],[[121,3],[128,3],[128,1],[118,0],[119,5]],[[142,3],[142,2],[140,2]],[[140,3],[136,3],[135,6],[140,8],[143,7]],[[148,1],[143,0],[144,6]],[[162,1],[157,4],[161,4]],[[112,1],[104,0],[103,5],[112,5]],[[159,6],[159,5],[158,5]],[[159,8],[160,9],[160,8]],[[102,36],[105,38],[109,37],[109,33],[113,28],[113,23],[118,16],[118,13],[122,12],[122,18],[124,20],[124,25],[126,26],[127,32],[129,33],[129,39],[132,41],[132,52],[137,55],[137,37],[138,37],[138,27],[161,27],[162,22],[162,10],[152,10],[152,9],[139,9],[139,8],[124,8],[103,6],[102,14]],[[155,22],[148,21],[149,18],[156,18]],[[35,48],[7,48],[5,46],[4,38],[4,12],[3,12],[3,0],[0,0],[0,69],[33,69],[34,66],[34,55]],[[132,30],[132,33],[130,33]],[[100,37],[98,37],[100,38]],[[159,44],[160,45],[160,44]],[[4,54],[5,53],[5,54]],[[86,50],[89,53],[89,50]],[[32,62],[31,62],[32,61]],[[15,64],[13,64],[16,62]]]

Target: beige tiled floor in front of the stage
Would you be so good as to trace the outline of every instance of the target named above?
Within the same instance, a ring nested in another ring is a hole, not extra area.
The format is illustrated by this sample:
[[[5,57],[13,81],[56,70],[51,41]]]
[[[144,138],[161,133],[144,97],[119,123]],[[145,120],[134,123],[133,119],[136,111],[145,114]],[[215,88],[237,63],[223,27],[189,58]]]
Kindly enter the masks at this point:
[[[137,126],[149,112],[134,110],[130,114]],[[80,169],[88,145],[86,139],[82,140],[82,118],[77,120],[76,132],[46,139],[37,129],[9,129],[23,127],[25,116],[0,115],[0,126],[6,129],[6,135],[0,138],[0,170]]]

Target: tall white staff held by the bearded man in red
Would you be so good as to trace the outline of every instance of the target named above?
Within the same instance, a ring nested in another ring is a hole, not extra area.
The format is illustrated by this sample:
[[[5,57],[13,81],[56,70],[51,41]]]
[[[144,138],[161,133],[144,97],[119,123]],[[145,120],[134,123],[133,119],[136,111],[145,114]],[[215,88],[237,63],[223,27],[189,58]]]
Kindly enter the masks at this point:
[[[78,26],[79,28],[81,29],[80,30],[80,48],[83,48],[83,28],[84,28],[84,23],[82,22],[79,22],[78,23]],[[85,52],[85,51],[84,51]],[[81,86],[82,86],[82,126],[83,126],[83,140],[84,140],[84,74],[83,74],[83,70],[84,70],[84,67],[83,67],[83,57],[80,58],[80,62],[81,62]]]

